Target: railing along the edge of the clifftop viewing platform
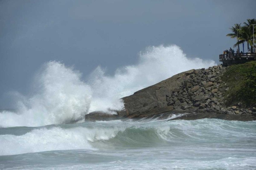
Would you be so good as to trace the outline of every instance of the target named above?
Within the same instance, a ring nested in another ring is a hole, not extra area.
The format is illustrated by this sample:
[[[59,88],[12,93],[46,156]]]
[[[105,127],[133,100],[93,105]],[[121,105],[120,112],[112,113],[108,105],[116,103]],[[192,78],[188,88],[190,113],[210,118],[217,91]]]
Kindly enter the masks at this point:
[[[229,53],[220,54],[219,61],[223,62],[225,60],[255,60],[256,53]]]

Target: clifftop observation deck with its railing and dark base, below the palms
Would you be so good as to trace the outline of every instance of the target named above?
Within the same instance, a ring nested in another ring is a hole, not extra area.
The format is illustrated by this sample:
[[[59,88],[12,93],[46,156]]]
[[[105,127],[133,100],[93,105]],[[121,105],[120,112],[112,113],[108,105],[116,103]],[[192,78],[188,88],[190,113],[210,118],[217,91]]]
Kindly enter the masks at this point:
[[[219,61],[223,63],[223,66],[243,64],[253,60],[256,60],[256,53],[229,53],[219,55]]]

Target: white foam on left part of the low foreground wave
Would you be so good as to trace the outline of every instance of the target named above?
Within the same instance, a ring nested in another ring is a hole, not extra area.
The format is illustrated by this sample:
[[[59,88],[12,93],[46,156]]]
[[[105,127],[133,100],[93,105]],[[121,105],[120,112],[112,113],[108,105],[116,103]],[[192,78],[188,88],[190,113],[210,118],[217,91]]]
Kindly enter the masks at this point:
[[[0,135],[0,155],[24,154],[50,150],[94,149],[89,142],[109,140],[125,128],[34,129],[24,135]]]

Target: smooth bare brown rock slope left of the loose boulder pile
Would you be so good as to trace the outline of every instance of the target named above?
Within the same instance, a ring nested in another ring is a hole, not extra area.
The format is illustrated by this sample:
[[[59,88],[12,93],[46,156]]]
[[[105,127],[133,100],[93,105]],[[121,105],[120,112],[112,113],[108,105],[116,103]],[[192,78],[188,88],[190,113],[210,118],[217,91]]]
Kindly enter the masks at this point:
[[[166,101],[167,96],[180,92],[182,82],[186,79],[191,79],[190,74],[193,74],[193,72],[194,69],[176,74],[122,98],[127,116],[130,118],[145,117],[173,110],[173,106]]]

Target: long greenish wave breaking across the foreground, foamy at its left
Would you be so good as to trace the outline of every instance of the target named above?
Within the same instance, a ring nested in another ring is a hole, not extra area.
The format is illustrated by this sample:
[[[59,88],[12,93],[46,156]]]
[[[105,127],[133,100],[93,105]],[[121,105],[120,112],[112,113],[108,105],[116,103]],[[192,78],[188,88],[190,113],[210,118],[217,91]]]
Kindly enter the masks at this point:
[[[245,137],[251,142],[244,143]],[[209,144],[211,147],[219,144],[220,146],[232,145],[232,147],[237,145],[244,149],[248,146],[252,149],[254,139],[255,121],[239,122],[219,119],[150,122],[97,121],[93,124],[85,122],[80,126],[40,127],[20,135],[1,135],[0,155],[50,150],[101,149],[102,147],[125,150],[152,148],[161,144],[186,147],[202,143]],[[241,143],[243,143],[242,146]]]

